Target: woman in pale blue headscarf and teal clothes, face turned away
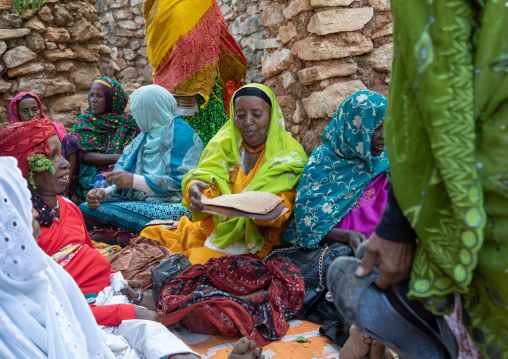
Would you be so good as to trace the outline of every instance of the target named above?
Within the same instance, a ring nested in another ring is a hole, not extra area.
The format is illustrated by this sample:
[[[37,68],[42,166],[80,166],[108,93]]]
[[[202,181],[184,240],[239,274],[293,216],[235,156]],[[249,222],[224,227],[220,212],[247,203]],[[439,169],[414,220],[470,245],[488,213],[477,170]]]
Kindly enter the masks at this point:
[[[131,113],[141,133],[125,147],[104,179],[113,185],[94,189],[80,206],[83,216],[140,232],[154,219],[178,221],[190,212],[182,202],[182,179],[197,167],[203,144],[198,134],[175,115],[176,101],[158,85],[131,96]]]

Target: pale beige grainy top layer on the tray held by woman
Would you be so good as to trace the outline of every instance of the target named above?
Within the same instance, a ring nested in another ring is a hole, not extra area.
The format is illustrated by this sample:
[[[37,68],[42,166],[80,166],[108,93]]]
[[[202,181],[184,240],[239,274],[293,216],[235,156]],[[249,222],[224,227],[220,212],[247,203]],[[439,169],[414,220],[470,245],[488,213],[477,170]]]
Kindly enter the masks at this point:
[[[251,191],[238,194],[224,194],[215,198],[201,197],[203,205],[227,207],[242,212],[266,214],[277,205],[284,202],[284,198],[269,192]]]

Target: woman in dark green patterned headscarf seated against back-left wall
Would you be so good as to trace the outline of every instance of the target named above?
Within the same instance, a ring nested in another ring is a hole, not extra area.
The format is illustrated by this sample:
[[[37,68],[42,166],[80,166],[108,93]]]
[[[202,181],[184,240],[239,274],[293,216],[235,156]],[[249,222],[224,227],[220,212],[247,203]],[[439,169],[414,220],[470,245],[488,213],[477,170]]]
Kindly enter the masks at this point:
[[[76,186],[81,201],[92,189],[95,176],[108,171],[139,133],[134,117],[124,112],[127,102],[125,90],[109,77],[95,80],[88,92],[88,109],[79,115],[73,129],[83,148]]]

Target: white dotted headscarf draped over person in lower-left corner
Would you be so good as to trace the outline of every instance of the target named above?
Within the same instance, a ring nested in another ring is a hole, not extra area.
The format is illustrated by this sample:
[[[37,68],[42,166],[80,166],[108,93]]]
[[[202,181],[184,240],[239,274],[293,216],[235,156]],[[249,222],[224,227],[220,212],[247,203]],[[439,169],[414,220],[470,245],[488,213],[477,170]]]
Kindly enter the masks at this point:
[[[108,349],[72,277],[32,236],[27,183],[0,157],[0,357],[103,358]]]

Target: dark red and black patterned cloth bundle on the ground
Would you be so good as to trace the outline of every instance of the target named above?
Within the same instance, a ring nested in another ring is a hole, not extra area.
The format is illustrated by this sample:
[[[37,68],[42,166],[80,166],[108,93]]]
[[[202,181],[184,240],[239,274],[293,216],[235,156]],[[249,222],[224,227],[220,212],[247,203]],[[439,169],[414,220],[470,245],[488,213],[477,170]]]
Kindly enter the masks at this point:
[[[251,297],[241,297],[266,289]],[[254,255],[212,258],[196,264],[169,282],[157,303],[161,323],[168,326],[189,317],[228,336],[247,336],[258,345],[282,338],[302,307],[305,285],[289,259],[266,263]],[[197,331],[196,328],[189,328]]]

